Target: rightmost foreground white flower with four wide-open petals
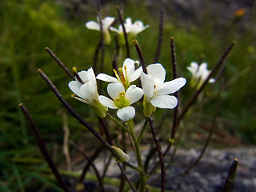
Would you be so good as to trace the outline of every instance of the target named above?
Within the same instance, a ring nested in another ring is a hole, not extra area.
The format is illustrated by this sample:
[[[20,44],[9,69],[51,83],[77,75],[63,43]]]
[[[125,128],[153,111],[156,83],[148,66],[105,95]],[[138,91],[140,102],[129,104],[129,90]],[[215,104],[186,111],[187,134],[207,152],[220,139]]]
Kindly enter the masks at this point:
[[[177,106],[178,99],[173,94],[186,84],[186,78],[175,78],[170,82],[164,82],[166,70],[159,63],[146,67],[148,74],[142,73],[142,88],[146,101],[158,108],[173,109]]]

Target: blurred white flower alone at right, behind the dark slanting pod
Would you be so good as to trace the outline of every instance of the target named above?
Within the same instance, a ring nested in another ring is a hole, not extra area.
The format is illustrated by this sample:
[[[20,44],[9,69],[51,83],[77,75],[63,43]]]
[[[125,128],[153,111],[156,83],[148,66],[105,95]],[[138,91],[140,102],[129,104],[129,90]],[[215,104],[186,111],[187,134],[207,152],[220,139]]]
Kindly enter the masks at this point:
[[[198,65],[197,62],[191,62],[190,66],[186,67],[187,70],[192,74],[190,85],[192,87],[197,86],[197,89],[202,86],[202,83],[206,80],[210,74],[210,70],[207,70],[207,63],[203,62],[201,65]],[[210,78],[210,83],[215,82],[214,78]]]

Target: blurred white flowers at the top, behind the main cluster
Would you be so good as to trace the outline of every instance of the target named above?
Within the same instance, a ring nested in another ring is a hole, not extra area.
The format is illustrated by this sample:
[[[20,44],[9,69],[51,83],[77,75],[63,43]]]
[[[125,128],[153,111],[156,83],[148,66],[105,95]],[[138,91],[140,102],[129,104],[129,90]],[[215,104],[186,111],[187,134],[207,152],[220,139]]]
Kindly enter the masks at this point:
[[[110,44],[111,38],[110,38],[109,30],[111,30],[111,31],[118,33],[119,43],[124,45],[126,42],[125,42],[125,38],[124,38],[124,31],[122,29],[122,25],[119,25],[118,29],[116,29],[113,26],[111,26],[113,22],[114,22],[113,17],[106,17],[106,18],[102,19],[102,33],[104,34],[105,42],[107,45]],[[133,40],[134,38],[136,38],[136,36],[140,32],[142,32],[142,30],[145,30],[146,28],[149,27],[149,25],[144,26],[143,22],[141,22],[141,21],[135,21],[134,23],[132,23],[131,18],[126,18],[126,22],[124,23],[124,26],[126,29],[126,34],[129,35],[130,40]],[[99,19],[98,19],[98,22],[94,22],[94,21],[86,22],[86,27],[89,30],[99,30],[100,31]]]

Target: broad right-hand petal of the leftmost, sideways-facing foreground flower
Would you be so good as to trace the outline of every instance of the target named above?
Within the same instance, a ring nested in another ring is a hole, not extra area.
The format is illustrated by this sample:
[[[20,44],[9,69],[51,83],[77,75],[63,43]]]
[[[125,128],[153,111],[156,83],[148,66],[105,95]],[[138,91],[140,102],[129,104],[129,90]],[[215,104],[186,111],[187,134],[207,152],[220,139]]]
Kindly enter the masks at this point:
[[[87,102],[98,98],[98,90],[94,82],[86,82],[85,84],[82,84],[80,87],[80,93],[82,98],[84,98]]]

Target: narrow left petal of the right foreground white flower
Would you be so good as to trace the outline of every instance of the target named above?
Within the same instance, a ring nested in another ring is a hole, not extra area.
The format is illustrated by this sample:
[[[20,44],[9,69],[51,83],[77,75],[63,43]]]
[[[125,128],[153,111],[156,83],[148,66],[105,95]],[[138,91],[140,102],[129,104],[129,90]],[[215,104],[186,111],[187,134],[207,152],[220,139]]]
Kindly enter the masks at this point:
[[[142,89],[147,99],[150,99],[154,95],[154,78],[150,74],[141,75]]]

